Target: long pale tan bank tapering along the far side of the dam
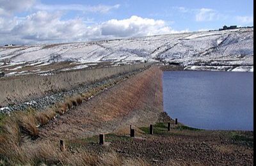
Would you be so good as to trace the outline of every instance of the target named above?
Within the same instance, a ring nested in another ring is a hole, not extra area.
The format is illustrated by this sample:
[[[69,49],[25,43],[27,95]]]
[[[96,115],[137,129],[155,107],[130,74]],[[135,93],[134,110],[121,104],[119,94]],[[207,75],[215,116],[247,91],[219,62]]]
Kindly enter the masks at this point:
[[[52,92],[69,90],[79,84],[90,84],[113,75],[145,68],[148,64],[134,64],[109,68],[95,68],[55,75],[27,75],[0,79],[0,107],[40,98]]]

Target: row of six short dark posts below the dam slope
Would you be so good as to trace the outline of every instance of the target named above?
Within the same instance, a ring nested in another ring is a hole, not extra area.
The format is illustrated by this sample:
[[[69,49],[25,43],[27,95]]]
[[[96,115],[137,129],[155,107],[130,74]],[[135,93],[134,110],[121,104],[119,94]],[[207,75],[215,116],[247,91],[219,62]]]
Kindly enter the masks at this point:
[[[178,124],[178,119],[175,118],[175,124]],[[167,131],[170,132],[171,130],[171,123],[168,122]],[[149,125],[149,134],[153,135],[153,124]],[[130,125],[130,137],[135,137],[135,129],[132,128],[132,125]],[[99,144],[103,145],[105,142],[105,136],[103,133],[99,134]],[[60,150],[65,151],[65,142],[64,140],[60,140]]]

